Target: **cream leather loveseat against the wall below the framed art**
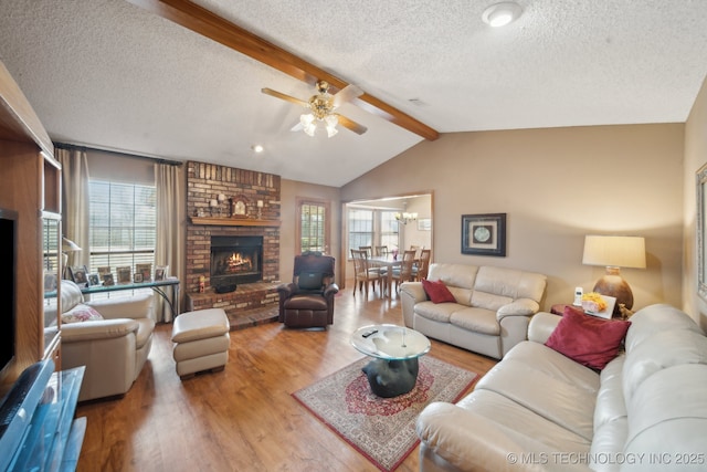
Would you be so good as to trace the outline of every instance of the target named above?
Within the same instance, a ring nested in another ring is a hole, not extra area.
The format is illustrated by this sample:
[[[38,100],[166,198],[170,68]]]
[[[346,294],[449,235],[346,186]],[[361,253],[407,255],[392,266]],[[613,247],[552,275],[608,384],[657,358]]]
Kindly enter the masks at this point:
[[[433,303],[421,282],[400,287],[405,326],[445,343],[500,359],[527,338],[547,277],[494,266],[434,263],[428,280],[442,281],[455,303]]]

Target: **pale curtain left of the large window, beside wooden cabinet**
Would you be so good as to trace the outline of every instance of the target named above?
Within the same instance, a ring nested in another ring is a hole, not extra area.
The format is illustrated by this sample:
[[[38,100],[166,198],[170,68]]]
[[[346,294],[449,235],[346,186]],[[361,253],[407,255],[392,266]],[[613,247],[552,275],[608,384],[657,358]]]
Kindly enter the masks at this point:
[[[62,233],[82,251],[68,253],[67,265],[88,265],[88,160],[82,149],[56,149],[62,165]]]

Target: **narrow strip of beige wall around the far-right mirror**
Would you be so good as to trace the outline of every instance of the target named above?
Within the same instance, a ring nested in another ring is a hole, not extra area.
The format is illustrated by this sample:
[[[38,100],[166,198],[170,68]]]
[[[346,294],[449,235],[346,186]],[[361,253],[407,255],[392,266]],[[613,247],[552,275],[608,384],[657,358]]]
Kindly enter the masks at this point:
[[[693,111],[685,126],[685,204],[684,204],[684,260],[685,271],[683,281],[684,310],[699,318],[703,327],[707,328],[707,303],[697,295],[697,242],[696,214],[697,195],[695,172],[707,164],[707,81],[703,83]]]

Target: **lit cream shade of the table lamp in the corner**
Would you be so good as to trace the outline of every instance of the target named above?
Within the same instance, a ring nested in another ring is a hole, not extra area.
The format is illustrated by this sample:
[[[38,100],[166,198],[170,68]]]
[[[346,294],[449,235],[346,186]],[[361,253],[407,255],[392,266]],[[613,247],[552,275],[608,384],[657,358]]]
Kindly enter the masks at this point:
[[[587,235],[582,263],[645,269],[645,240],[640,237]]]

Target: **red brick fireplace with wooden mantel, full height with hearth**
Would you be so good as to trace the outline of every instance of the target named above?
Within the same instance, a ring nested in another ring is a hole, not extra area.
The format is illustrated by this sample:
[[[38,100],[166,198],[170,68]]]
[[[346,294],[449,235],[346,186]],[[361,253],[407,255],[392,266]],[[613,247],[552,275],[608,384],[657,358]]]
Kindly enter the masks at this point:
[[[189,161],[187,166],[188,310],[221,307],[233,328],[234,318],[277,306],[273,282],[279,279],[281,179],[205,162]],[[230,214],[235,200],[244,202],[245,214]],[[243,251],[220,251],[226,244]],[[201,277],[203,293],[199,293]],[[229,283],[238,284],[234,292],[214,290]]]

